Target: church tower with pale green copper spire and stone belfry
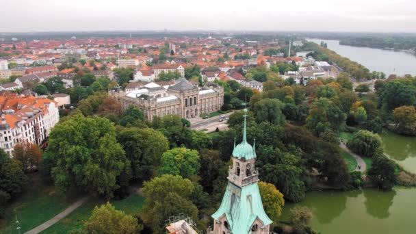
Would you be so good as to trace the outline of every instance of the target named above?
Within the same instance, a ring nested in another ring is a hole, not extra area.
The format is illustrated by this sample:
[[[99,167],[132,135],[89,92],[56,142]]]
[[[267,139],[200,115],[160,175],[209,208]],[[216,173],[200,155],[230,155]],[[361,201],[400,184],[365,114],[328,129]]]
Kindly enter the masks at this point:
[[[214,219],[212,234],[269,233],[272,220],[263,209],[259,192],[259,172],[255,169],[256,151],[246,136],[247,109],[244,109],[243,141],[233,150],[233,166],[229,168],[220,208]]]

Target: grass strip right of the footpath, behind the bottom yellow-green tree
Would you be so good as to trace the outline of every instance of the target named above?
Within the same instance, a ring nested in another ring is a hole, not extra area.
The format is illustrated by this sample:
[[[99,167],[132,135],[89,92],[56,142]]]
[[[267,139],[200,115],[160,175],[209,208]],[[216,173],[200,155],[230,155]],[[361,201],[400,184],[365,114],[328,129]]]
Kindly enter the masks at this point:
[[[90,198],[90,200],[73,211],[73,213],[70,213],[70,215],[66,216],[66,218],[63,218],[60,222],[57,222],[42,233],[68,233],[73,229],[81,229],[83,227],[83,222],[90,218],[94,207],[100,206],[104,203],[104,199]],[[144,197],[136,193],[122,200],[112,200],[110,203],[112,203],[116,209],[133,215],[139,213],[140,209],[142,209]]]

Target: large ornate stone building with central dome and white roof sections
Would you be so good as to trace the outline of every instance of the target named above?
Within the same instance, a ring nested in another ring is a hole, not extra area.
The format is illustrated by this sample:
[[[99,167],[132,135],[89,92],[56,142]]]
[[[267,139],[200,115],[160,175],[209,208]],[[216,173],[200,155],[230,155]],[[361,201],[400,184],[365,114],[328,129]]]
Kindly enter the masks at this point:
[[[224,104],[222,87],[210,83],[198,88],[184,78],[177,79],[172,85],[159,86],[151,82],[136,90],[110,90],[109,94],[120,101],[123,109],[129,105],[138,107],[149,121],[153,116],[167,114],[192,119],[203,113],[217,112]]]

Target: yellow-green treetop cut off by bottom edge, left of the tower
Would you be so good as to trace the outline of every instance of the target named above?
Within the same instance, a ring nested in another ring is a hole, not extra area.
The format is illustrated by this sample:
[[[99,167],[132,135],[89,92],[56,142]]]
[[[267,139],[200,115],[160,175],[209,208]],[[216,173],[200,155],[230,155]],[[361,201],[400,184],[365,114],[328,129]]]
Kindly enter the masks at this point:
[[[84,223],[88,233],[125,233],[135,234],[142,231],[143,226],[138,225],[138,220],[127,215],[124,211],[118,211],[107,202],[101,207],[92,210],[91,217]]]

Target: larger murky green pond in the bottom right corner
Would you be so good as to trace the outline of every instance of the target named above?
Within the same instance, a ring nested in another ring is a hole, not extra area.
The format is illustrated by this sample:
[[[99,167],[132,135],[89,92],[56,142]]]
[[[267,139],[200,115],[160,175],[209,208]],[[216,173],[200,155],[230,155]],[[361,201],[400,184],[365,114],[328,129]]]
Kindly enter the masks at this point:
[[[415,198],[416,189],[402,187],[308,192],[302,202],[286,204],[281,219],[288,220],[291,208],[307,206],[313,211],[310,225],[323,234],[416,233]]]

